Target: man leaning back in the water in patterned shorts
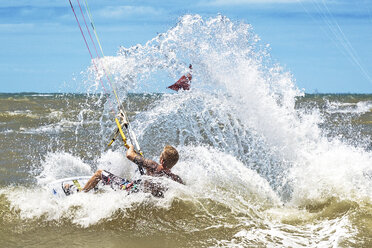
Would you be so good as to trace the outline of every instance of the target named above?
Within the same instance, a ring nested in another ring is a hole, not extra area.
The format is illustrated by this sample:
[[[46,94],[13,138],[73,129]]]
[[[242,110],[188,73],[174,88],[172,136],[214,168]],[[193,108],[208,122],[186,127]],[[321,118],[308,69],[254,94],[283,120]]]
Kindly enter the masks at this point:
[[[153,177],[165,176],[173,181],[184,184],[179,176],[171,172],[172,167],[177,163],[179,158],[178,152],[174,147],[169,145],[164,147],[163,152],[160,154],[159,163],[150,159],[145,159],[144,157],[138,155],[135,152],[133,145],[129,145],[126,155],[130,161],[146,169],[147,175]],[[111,185],[111,187],[114,189],[132,191],[133,189],[136,190],[136,187],[141,180],[130,182],[108,171],[97,170],[82,190],[84,192],[88,192],[89,190],[93,189],[99,181],[102,181],[105,185]],[[143,184],[145,191],[150,191],[154,196],[163,195],[164,188],[158,184],[154,184],[149,181],[145,181]]]

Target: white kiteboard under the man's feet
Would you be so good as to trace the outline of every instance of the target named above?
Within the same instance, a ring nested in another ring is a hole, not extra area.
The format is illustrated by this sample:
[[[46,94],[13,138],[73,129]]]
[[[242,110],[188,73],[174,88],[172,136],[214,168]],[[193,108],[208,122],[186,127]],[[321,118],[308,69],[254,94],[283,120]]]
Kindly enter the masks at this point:
[[[84,188],[91,176],[78,176],[58,179],[46,185],[53,195],[64,197]]]

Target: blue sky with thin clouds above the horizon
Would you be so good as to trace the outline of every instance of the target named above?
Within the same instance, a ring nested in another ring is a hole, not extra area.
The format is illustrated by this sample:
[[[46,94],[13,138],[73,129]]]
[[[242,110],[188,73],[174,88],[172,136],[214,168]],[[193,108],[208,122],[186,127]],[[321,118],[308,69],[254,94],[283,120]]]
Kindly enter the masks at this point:
[[[221,14],[251,24],[306,93],[372,93],[372,0],[88,3],[105,55],[144,44],[182,15]],[[0,92],[76,92],[89,64],[68,0],[0,0]]]

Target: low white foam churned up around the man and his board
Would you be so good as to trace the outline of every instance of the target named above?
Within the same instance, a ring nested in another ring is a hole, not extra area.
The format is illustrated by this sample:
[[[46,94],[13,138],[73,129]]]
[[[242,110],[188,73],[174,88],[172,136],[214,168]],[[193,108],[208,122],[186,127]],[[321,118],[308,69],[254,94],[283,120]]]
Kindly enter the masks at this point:
[[[116,211],[126,211],[144,201],[150,201],[154,208],[168,208],[175,198],[210,198],[238,212],[245,212],[250,207],[250,202],[257,201],[263,205],[280,202],[264,179],[232,156],[204,147],[184,147],[180,149],[180,154],[184,159],[175,167],[174,172],[182,175],[187,186],[169,179],[161,180],[165,185],[170,184],[164,199],[155,198],[148,193],[127,195],[125,191],[112,190],[104,194],[80,193],[65,198],[55,197],[52,192],[40,188],[20,188],[3,193],[8,196],[12,208],[20,211],[21,218],[68,218],[82,227],[97,224],[110,218]],[[108,169],[123,177],[136,174],[135,166],[119,152],[108,151],[97,163],[98,168]],[[43,168],[38,177],[41,185],[64,177],[92,175],[89,165],[67,153],[47,155]],[[216,193],[216,188],[224,189],[224,194]],[[249,195],[250,200],[236,195],[237,190]],[[75,211],[76,206],[79,211]]]

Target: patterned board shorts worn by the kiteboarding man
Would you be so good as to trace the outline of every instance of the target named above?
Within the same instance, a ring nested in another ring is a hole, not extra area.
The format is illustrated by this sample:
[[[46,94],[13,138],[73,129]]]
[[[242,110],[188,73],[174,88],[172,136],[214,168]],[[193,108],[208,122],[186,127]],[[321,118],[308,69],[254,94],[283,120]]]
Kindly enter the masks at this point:
[[[141,179],[129,181],[106,170],[102,171],[101,178],[102,184],[110,185],[114,190],[125,190],[130,193],[138,192],[141,184]]]

